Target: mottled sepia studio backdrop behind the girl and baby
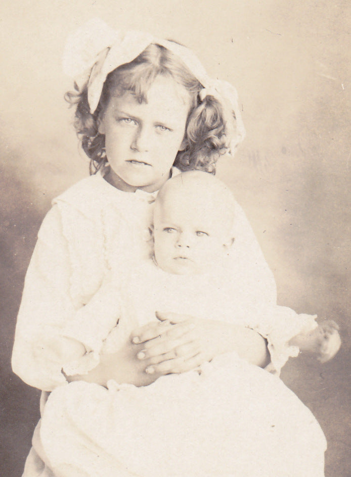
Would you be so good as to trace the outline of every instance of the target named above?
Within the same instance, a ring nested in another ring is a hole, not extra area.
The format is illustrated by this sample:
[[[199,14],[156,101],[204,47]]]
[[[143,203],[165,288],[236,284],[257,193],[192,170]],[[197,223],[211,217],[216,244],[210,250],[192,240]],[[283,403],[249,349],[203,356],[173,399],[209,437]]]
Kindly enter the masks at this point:
[[[340,324],[343,345],[331,362],[290,360],[282,377],[326,434],[326,476],[351,475],[348,0],[3,0],[0,474],[21,475],[39,416],[39,392],[11,371],[14,327],[41,220],[52,198],[87,174],[63,101],[72,84],[61,56],[67,34],[92,17],[177,39],[236,85],[247,137],[218,175],[246,211],[279,304]]]

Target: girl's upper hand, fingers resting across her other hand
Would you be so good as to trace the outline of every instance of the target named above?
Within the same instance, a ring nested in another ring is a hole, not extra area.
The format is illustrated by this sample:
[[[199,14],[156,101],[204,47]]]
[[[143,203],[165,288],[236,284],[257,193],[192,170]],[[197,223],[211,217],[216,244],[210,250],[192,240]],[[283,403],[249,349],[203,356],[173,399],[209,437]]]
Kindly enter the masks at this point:
[[[230,325],[177,313],[156,313],[160,323],[134,330],[132,342],[142,343],[137,357],[148,374],[182,373],[216,355],[231,351]]]

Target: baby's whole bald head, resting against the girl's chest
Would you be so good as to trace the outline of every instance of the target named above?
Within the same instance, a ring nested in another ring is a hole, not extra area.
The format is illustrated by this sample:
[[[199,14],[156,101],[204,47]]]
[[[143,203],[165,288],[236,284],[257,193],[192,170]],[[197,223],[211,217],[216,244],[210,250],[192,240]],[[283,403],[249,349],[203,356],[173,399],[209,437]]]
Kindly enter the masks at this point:
[[[171,273],[207,271],[233,242],[234,214],[230,190],[213,175],[189,171],[169,179],[155,203],[158,265]]]

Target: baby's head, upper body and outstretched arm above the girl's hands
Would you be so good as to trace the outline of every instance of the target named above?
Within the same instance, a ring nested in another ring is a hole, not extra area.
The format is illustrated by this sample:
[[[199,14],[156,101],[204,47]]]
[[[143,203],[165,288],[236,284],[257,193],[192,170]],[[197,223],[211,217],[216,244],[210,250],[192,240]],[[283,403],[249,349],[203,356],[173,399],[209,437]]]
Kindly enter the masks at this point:
[[[234,198],[213,175],[190,171],[168,180],[155,202],[153,261],[142,264],[125,282],[122,301],[129,325],[141,326],[154,319],[155,312],[171,311],[257,330],[267,338],[278,371],[298,349],[314,353],[322,362],[331,359],[340,348],[336,323],[317,325],[315,317],[267,307],[257,302],[240,264],[233,273],[239,262],[234,221]],[[169,316],[158,313],[159,319]],[[144,352],[138,356],[151,357]],[[163,364],[146,368],[151,373],[160,370]]]

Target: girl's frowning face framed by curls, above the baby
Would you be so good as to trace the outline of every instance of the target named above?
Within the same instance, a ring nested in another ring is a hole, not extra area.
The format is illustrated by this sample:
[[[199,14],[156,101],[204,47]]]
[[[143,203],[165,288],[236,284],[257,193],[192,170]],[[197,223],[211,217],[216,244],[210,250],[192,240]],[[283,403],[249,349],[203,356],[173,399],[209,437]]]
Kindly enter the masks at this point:
[[[158,190],[183,148],[189,108],[188,91],[165,76],[155,79],[147,103],[129,91],[111,94],[99,123],[110,164],[107,180],[126,192]]]

